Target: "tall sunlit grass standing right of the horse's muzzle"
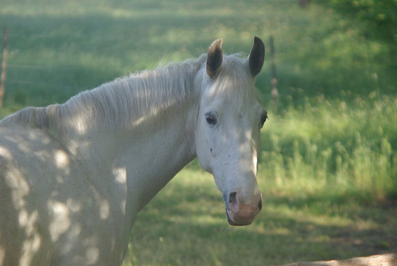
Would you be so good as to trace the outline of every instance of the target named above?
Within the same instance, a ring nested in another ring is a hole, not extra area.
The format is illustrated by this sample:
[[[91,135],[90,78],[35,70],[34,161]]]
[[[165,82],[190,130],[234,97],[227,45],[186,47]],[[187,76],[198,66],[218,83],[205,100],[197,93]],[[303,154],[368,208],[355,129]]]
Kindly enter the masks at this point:
[[[350,103],[316,97],[269,116],[260,177],[272,187],[397,195],[397,98],[376,92]]]

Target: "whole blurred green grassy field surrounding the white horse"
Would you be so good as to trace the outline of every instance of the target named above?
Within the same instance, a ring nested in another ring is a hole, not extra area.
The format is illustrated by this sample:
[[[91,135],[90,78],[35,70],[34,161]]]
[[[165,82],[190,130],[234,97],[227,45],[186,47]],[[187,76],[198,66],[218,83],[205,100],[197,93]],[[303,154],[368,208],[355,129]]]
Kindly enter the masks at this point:
[[[229,226],[194,160],[139,213],[125,266],[397,252],[396,0],[1,0],[4,28],[0,117],[198,57],[217,38],[225,53],[264,41],[262,212]]]

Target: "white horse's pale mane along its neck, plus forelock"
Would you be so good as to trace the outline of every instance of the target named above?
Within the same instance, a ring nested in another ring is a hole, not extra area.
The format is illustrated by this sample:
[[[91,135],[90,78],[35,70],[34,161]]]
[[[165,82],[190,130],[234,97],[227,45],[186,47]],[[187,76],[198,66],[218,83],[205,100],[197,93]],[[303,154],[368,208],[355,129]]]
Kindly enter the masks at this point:
[[[203,54],[197,59],[117,78],[95,89],[80,92],[64,104],[25,107],[2,119],[0,126],[21,124],[62,130],[63,126],[70,125],[78,131],[85,131],[87,126],[101,124],[117,128],[139,119],[142,114],[155,114],[158,110],[182,101],[192,93],[195,73],[205,60],[206,54]],[[223,71],[229,73],[226,82],[217,81],[213,86],[221,90],[230,87],[227,83],[235,82],[239,74],[241,76],[241,69],[236,69],[235,65],[242,65],[242,59],[240,54],[232,54],[224,57],[224,63]],[[240,95],[236,97],[247,94],[237,93]]]

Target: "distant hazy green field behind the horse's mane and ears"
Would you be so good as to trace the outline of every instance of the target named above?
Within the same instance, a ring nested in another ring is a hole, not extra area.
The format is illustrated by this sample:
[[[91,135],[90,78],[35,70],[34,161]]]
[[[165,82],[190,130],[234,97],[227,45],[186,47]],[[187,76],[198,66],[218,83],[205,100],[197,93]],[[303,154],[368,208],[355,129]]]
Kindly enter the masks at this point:
[[[20,94],[11,80],[34,81],[24,86],[31,91],[29,101],[19,104],[45,105],[59,93],[54,85],[76,87],[59,99],[66,101],[81,89],[129,71],[152,69],[159,60],[197,57],[219,37],[224,38],[226,53],[249,53],[253,35],[260,36],[266,48],[268,36],[274,35],[282,103],[288,95],[293,103],[301,103],[305,96],[339,97],[342,90],[360,95],[374,89],[396,91],[397,78],[391,68],[395,60],[387,45],[366,40],[360,35],[360,23],[315,4],[301,9],[296,1],[278,0],[18,0],[1,4],[0,27],[8,27],[9,32],[6,107],[18,104],[16,94]],[[21,69],[13,64],[39,68]],[[91,72],[73,73],[70,79],[72,70],[62,66]],[[48,75],[42,77],[38,71]],[[257,80],[266,95],[268,72],[265,64]],[[43,80],[49,85],[42,86]],[[40,89],[46,90],[49,101],[36,97]]]

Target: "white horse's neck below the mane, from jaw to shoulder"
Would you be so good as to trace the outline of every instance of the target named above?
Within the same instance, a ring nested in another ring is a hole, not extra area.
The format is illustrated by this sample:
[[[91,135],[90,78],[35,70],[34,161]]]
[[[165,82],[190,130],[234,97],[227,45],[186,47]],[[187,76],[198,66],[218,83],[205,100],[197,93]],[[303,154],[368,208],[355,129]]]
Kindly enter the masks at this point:
[[[199,95],[191,90],[183,100],[148,112],[150,115],[118,130],[92,127],[87,132],[74,131],[65,139],[66,145],[99,183],[126,188],[118,196],[126,201],[126,210],[138,212],[196,156]]]

